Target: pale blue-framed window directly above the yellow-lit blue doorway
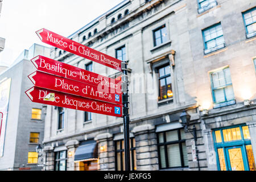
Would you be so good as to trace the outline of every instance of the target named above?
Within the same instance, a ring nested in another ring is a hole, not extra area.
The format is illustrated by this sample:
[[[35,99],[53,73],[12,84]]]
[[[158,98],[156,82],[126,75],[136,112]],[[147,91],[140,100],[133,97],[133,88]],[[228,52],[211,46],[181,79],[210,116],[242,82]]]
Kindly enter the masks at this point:
[[[229,68],[210,73],[214,108],[236,104]]]

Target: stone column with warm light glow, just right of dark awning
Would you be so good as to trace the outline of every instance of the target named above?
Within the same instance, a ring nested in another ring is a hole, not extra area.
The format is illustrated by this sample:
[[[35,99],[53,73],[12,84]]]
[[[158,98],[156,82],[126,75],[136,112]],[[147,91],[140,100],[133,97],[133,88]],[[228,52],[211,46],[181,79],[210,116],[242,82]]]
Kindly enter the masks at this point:
[[[114,171],[115,151],[112,134],[99,134],[94,140],[98,142],[99,171]]]

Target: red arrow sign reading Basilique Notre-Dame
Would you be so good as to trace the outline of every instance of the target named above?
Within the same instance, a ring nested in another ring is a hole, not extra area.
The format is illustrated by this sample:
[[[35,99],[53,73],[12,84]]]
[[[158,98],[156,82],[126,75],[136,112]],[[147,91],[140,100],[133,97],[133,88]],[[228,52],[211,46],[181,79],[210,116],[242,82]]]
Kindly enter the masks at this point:
[[[51,73],[94,86],[104,86],[105,89],[110,89],[110,93],[122,93],[122,82],[120,80],[98,75],[44,56],[36,56],[34,59],[31,59],[31,61],[38,71]]]

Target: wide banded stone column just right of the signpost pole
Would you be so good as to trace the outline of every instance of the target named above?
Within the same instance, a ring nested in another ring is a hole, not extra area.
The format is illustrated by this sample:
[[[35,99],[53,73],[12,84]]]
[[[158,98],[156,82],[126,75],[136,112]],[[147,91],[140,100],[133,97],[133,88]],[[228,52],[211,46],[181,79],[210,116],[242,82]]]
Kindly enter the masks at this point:
[[[131,133],[135,136],[137,171],[159,170],[155,126],[136,126]]]

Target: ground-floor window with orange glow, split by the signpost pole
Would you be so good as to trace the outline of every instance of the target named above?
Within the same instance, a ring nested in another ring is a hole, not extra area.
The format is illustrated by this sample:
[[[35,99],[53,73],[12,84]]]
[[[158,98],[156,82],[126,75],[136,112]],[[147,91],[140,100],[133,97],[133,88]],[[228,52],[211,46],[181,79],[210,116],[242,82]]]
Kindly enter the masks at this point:
[[[131,159],[131,171],[137,169],[137,159],[136,159],[136,145],[135,138],[130,138],[130,159]],[[125,144],[123,140],[115,141],[115,169],[117,171],[125,170]]]

